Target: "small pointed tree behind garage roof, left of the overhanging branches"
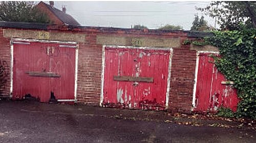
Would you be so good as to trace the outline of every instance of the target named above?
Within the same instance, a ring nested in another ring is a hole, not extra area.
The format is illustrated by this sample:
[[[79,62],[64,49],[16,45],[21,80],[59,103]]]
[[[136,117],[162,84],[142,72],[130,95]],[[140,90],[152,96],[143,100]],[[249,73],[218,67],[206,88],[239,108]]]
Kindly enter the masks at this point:
[[[207,24],[207,21],[204,20],[204,16],[201,16],[199,19],[198,15],[195,15],[194,21],[192,22],[191,31],[207,31],[210,30],[210,27]]]

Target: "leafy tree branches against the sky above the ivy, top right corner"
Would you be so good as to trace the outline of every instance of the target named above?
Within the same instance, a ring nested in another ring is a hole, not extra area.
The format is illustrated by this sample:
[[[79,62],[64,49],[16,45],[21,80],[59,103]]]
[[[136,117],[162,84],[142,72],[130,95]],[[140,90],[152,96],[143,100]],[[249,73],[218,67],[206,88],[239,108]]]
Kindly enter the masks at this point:
[[[216,18],[222,30],[238,30],[241,23],[256,27],[256,2],[211,2],[206,8],[197,8]]]

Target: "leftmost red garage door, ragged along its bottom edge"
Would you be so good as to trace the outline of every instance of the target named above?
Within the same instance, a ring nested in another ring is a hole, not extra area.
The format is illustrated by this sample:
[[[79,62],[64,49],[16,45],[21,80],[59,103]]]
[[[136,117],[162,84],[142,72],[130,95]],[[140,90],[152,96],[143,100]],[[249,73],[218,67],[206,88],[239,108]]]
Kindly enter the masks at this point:
[[[74,100],[75,44],[13,42],[13,99]]]

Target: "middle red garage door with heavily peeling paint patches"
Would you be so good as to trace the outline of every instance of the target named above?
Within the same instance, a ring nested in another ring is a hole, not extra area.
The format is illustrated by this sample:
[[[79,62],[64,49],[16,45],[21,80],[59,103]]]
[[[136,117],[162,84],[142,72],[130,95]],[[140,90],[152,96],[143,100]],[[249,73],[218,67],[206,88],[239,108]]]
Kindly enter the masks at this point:
[[[165,109],[170,50],[105,48],[103,106]]]

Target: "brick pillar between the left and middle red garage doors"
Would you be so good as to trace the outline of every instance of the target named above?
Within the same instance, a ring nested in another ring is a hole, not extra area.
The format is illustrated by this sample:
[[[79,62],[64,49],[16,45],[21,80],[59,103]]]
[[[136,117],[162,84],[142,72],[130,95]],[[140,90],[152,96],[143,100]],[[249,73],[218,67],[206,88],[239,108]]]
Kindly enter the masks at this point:
[[[99,105],[101,87],[102,46],[96,45],[96,34],[89,34],[86,43],[79,43],[78,103]]]

